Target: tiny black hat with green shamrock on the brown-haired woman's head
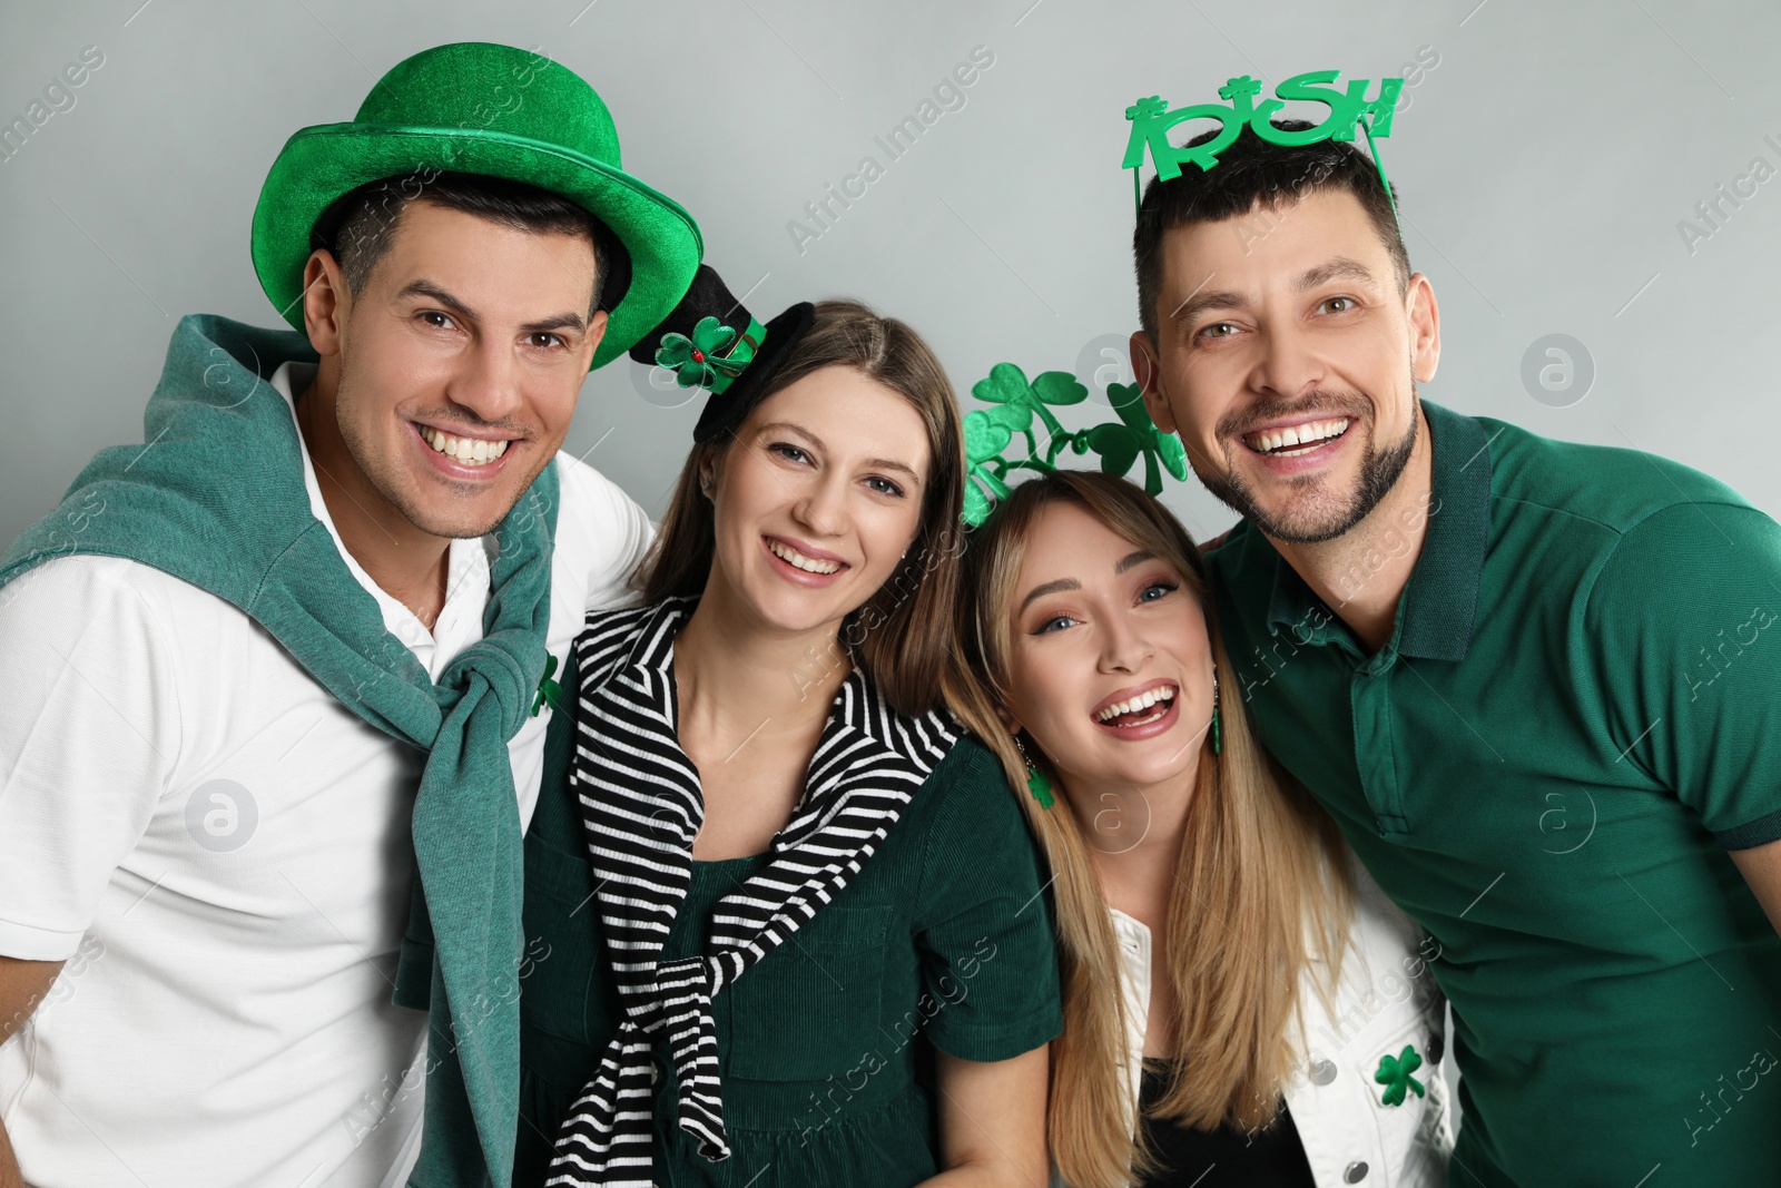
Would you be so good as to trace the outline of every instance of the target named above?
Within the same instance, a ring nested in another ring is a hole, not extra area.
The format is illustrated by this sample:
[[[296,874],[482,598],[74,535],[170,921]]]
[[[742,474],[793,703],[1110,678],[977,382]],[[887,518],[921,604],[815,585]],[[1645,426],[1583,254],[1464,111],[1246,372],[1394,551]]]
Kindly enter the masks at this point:
[[[814,306],[800,301],[762,326],[716,269],[700,264],[686,296],[630,347],[630,358],[666,367],[682,388],[711,392],[693,427],[695,442],[709,442],[743,422],[814,317]]]

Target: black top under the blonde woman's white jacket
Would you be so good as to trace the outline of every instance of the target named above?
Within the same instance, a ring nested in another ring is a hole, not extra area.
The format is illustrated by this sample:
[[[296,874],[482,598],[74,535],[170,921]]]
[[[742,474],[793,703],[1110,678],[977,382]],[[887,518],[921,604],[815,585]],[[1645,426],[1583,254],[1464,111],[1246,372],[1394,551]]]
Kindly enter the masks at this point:
[[[1143,1135],[1156,1154],[1159,1168],[1140,1183],[1140,1188],[1316,1188],[1311,1163],[1298,1142],[1293,1115],[1281,1103],[1281,1113],[1266,1129],[1240,1131],[1222,1126],[1216,1131],[1195,1131],[1172,1119],[1152,1119],[1149,1113],[1168,1088],[1170,1070],[1163,1062],[1143,1062]]]

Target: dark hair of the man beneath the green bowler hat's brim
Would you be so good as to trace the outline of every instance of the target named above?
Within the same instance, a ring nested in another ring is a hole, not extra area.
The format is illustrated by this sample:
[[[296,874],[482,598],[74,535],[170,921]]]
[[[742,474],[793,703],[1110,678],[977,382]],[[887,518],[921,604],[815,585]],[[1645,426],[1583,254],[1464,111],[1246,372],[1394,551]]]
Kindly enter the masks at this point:
[[[347,289],[358,296],[390,249],[401,214],[411,201],[429,201],[522,232],[586,237],[593,242],[590,317],[600,308],[602,294],[618,305],[629,287],[630,258],[600,219],[561,194],[477,173],[420,169],[360,185],[315,221],[310,249],[328,248]]]

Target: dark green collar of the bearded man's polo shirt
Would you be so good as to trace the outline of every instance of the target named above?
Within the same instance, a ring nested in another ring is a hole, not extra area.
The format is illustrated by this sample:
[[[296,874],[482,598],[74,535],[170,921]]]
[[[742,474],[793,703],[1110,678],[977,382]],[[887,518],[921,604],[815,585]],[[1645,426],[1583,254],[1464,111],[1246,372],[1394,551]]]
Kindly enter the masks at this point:
[[[1484,554],[1491,543],[1491,438],[1471,417],[1421,401],[1428,417],[1430,500],[1423,549],[1398,602],[1393,647],[1398,655],[1466,659],[1478,616]],[[1295,629],[1300,643],[1322,643],[1307,629],[1320,602],[1291,565],[1273,554],[1268,623]],[[1325,616],[1336,616],[1325,609]]]

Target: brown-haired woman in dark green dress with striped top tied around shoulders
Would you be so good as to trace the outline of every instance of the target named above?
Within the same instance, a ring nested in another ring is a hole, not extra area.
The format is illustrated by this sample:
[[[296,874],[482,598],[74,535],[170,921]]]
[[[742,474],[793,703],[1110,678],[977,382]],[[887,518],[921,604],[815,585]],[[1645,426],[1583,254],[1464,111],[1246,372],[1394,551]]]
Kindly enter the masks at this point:
[[[525,842],[515,1183],[1029,1184],[1056,956],[939,700],[951,387],[851,301],[760,326],[705,269],[684,305],[648,358],[714,394],[643,604],[575,641]]]

